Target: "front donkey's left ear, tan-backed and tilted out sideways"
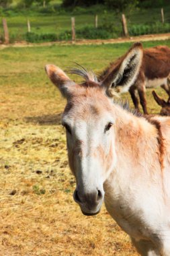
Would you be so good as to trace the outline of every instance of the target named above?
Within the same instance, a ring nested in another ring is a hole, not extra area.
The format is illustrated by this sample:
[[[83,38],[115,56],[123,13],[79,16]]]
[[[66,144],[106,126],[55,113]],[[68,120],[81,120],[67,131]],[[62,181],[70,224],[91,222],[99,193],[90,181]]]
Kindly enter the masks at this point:
[[[70,86],[73,86],[75,82],[73,82],[59,67],[48,64],[46,65],[45,70],[52,83],[60,90],[62,96],[69,96],[69,88]]]

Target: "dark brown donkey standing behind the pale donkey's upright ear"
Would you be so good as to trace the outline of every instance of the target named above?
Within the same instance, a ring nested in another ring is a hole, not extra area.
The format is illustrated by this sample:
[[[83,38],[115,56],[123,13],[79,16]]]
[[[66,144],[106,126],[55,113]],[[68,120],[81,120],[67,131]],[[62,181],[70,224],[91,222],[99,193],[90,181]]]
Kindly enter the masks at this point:
[[[105,69],[100,75],[100,79],[104,79],[108,73],[117,73],[124,56],[117,59],[115,62],[110,63],[110,67]],[[128,70],[127,70],[128,73]],[[129,92],[134,103],[134,107],[138,110],[138,95],[140,104],[144,114],[148,114],[146,108],[146,88],[155,88],[161,86],[167,93],[169,93],[169,86],[167,84],[167,77],[170,73],[170,49],[167,46],[155,46],[152,48],[144,49],[142,66],[136,79],[136,82],[130,87]],[[112,84],[116,88],[117,84]]]

